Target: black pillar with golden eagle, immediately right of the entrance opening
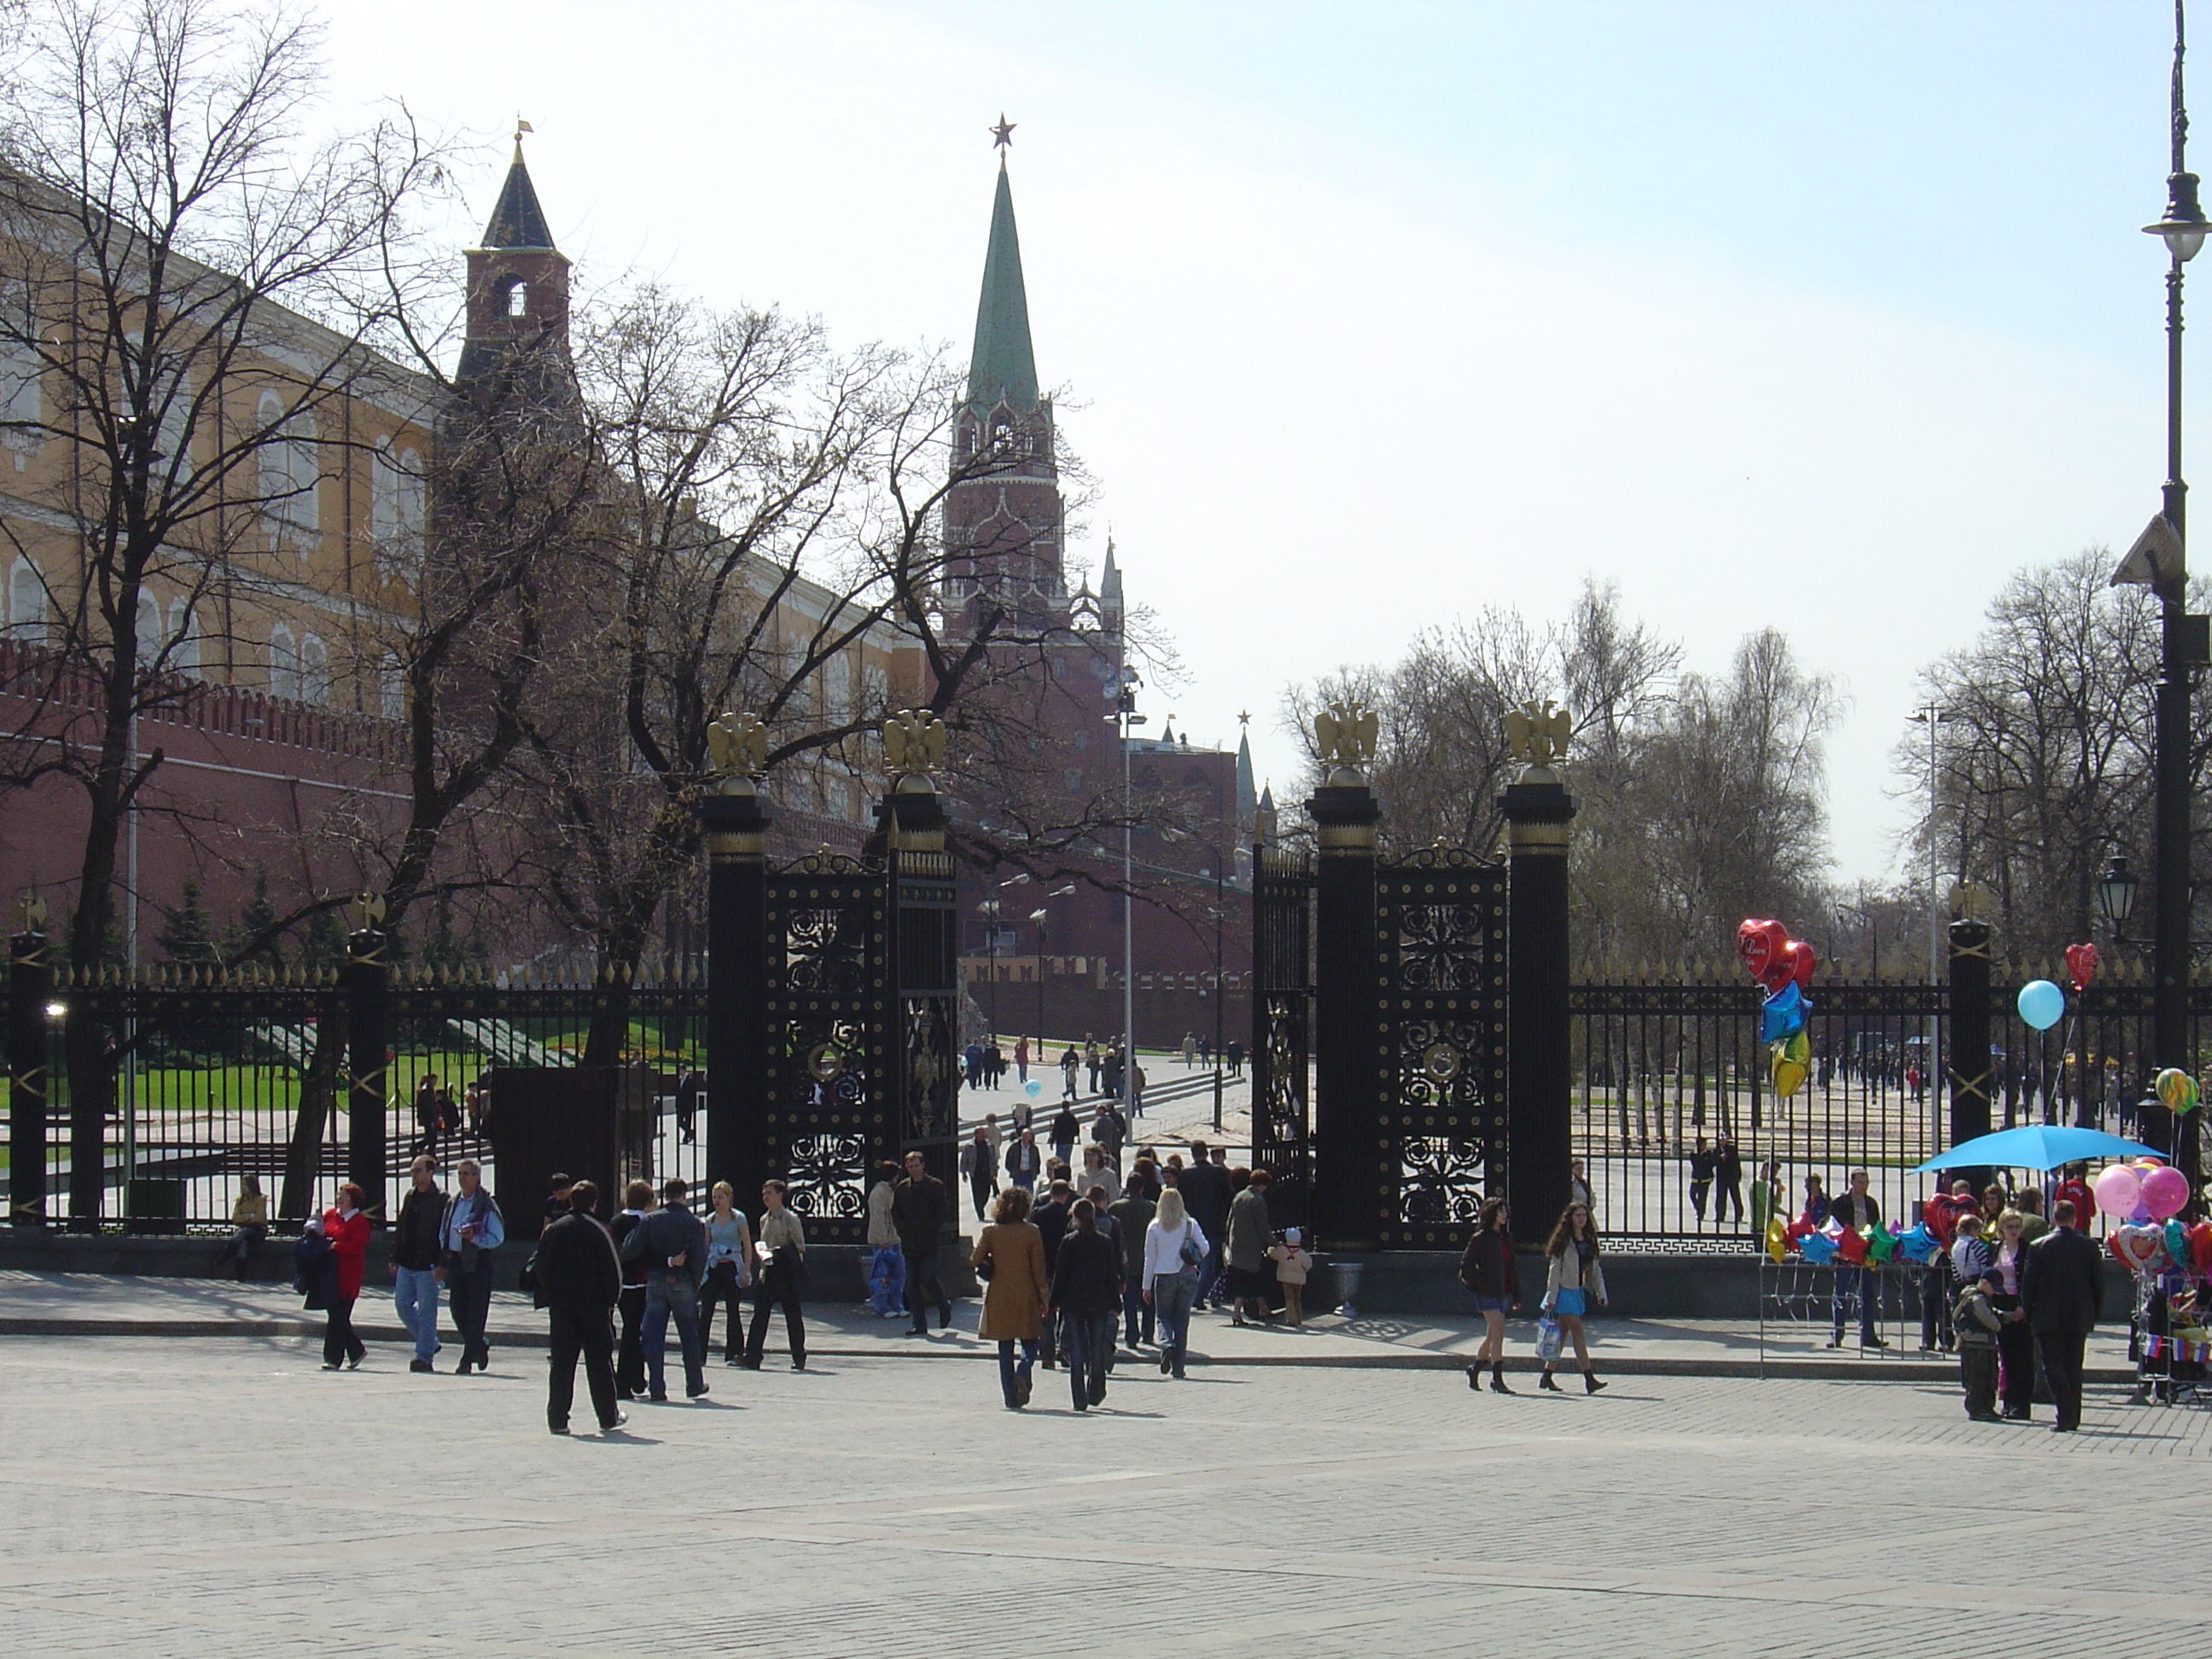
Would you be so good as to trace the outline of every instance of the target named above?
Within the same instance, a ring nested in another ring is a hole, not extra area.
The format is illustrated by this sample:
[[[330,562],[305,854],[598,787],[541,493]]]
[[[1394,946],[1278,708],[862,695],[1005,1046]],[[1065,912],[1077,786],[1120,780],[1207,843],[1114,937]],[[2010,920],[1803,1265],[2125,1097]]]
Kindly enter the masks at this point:
[[[1367,719],[1374,719],[1371,714]],[[1325,741],[1327,748],[1327,741]],[[1383,803],[1358,763],[1314,790],[1314,1228],[1329,1250],[1374,1250],[1383,1239],[1383,1062],[1376,1055],[1376,825]],[[1323,759],[1329,759],[1325,754]]]

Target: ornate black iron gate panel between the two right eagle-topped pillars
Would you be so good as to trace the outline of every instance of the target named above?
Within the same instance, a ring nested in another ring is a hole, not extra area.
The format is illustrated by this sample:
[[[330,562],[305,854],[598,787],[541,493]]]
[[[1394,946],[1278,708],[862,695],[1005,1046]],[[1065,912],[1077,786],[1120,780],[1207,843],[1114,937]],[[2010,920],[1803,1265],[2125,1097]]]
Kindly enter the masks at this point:
[[[1506,1190],[1506,867],[1429,847],[1376,869],[1387,1250],[1455,1250]]]

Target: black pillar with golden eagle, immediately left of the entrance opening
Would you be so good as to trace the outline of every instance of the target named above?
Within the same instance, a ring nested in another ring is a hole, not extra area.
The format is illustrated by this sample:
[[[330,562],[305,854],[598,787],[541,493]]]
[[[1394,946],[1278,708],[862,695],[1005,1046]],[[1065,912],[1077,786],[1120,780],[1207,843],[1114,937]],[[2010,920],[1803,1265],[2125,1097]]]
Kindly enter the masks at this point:
[[[960,1188],[960,940],[953,860],[945,852],[951,816],[929,779],[945,759],[945,723],[929,710],[900,710],[883,726],[889,792],[876,803],[874,847],[883,854],[891,922],[891,1006],[887,1024],[900,1075],[900,1146],[880,1157],[920,1152],[933,1177]],[[958,1206],[953,1206],[958,1210]]]

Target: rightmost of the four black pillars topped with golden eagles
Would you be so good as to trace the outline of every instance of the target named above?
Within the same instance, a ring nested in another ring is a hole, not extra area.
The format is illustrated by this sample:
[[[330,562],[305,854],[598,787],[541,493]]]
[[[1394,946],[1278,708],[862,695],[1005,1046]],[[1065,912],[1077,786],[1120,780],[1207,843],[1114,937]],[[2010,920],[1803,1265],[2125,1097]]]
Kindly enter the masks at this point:
[[[1564,719],[1555,717],[1555,719]],[[1517,732],[1520,728],[1515,728]],[[1575,1155],[1573,1024],[1566,1009],[1566,825],[1575,796],[1546,765],[1564,732],[1515,741],[1528,761],[1498,805],[1506,814],[1506,1190],[1513,1237],[1542,1245],[1566,1208]]]

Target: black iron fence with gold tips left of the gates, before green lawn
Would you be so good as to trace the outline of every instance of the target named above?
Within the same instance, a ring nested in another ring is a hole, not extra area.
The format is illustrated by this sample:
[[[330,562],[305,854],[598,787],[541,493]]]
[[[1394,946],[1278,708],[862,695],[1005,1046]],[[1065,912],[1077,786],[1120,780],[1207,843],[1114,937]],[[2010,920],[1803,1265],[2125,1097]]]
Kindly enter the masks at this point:
[[[336,971],[164,969],[146,982],[55,973],[35,1048],[44,1062],[44,1214],[73,1225],[217,1230],[248,1183],[299,1221],[352,1172],[347,998]],[[500,1068],[630,1066],[650,1130],[637,1175],[701,1177],[679,1079],[703,1062],[697,982],[489,980],[392,969],[383,1135],[394,1183],[418,1152],[476,1157],[498,1190]],[[24,1026],[18,1026],[24,1037]],[[29,1144],[11,1144],[24,1157]],[[580,1170],[580,1175],[584,1175]],[[606,1179],[608,1172],[591,1172]],[[11,1210],[33,1183],[9,1168]],[[507,1192],[533,1208],[542,1194]]]

